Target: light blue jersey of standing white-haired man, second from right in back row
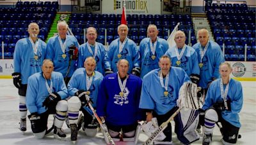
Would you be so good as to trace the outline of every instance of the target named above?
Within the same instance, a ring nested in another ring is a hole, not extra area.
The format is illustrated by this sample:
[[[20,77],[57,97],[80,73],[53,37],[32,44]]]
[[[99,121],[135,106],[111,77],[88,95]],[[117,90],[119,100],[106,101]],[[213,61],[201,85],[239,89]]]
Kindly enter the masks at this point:
[[[186,49],[179,61],[175,49],[176,46],[170,48],[165,53],[165,55],[170,57],[170,59],[172,60],[172,66],[181,67],[188,74],[188,76],[190,76],[191,74],[198,74],[199,76],[200,67],[198,66],[198,55],[195,52],[195,49],[191,46],[186,45]],[[179,54],[181,51],[182,49],[178,49]]]

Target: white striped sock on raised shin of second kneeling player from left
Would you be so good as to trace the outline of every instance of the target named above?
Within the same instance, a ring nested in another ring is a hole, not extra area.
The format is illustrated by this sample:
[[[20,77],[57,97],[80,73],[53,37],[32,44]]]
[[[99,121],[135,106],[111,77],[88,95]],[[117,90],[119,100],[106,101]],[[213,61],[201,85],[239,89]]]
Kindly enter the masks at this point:
[[[73,96],[68,99],[68,121],[70,124],[77,124],[81,101],[78,97]]]

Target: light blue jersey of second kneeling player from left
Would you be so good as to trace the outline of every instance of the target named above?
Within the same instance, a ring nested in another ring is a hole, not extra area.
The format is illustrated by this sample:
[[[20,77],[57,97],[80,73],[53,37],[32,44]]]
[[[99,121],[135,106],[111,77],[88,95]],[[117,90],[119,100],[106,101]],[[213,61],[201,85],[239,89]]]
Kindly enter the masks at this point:
[[[74,96],[75,93],[79,90],[90,91],[90,98],[93,101],[92,106],[95,108],[97,103],[100,83],[102,79],[103,79],[102,74],[98,71],[95,71],[92,79],[92,85],[90,86],[89,89],[87,89],[85,68],[79,68],[74,72],[73,76],[68,82],[68,94],[70,96]],[[84,106],[84,109],[86,109],[92,114],[91,109],[88,109],[88,107]]]

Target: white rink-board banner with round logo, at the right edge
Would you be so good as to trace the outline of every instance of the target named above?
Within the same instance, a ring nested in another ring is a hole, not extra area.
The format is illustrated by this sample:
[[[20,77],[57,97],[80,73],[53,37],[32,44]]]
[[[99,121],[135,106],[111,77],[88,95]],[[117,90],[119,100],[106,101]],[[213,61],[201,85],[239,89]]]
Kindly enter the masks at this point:
[[[232,67],[231,78],[256,78],[256,62],[229,62]]]

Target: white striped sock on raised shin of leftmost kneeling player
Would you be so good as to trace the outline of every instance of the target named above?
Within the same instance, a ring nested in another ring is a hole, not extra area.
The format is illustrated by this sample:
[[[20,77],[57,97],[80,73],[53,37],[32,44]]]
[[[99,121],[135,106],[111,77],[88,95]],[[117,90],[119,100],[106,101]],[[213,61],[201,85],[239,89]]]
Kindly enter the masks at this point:
[[[56,116],[54,120],[54,125],[61,128],[65,118],[67,116],[68,103],[67,100],[60,100],[56,105]]]

